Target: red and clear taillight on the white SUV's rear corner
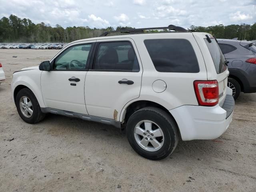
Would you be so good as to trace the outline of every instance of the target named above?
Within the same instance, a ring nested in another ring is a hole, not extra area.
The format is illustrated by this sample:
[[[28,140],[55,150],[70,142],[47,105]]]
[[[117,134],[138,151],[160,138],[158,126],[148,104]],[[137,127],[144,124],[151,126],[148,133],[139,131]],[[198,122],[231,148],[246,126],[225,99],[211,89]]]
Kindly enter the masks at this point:
[[[219,102],[219,84],[217,80],[194,81],[196,98],[200,106],[215,106]]]

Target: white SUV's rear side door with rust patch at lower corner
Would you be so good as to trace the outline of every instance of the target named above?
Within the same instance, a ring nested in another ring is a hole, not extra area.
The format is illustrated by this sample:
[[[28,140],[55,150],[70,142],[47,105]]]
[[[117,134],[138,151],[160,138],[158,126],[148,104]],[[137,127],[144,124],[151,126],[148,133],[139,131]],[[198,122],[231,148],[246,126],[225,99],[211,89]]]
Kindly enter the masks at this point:
[[[140,96],[138,52],[130,38],[97,40],[95,46],[93,66],[85,80],[86,108],[89,115],[119,120],[125,104]]]

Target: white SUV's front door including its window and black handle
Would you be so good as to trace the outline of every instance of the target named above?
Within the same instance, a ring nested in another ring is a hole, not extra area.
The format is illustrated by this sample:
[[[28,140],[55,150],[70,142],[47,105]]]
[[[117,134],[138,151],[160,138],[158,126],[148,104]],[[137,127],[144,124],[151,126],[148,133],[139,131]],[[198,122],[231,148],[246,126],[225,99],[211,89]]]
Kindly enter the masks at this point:
[[[46,107],[88,114],[84,81],[93,42],[69,46],[52,61],[50,72],[42,72],[41,89]]]

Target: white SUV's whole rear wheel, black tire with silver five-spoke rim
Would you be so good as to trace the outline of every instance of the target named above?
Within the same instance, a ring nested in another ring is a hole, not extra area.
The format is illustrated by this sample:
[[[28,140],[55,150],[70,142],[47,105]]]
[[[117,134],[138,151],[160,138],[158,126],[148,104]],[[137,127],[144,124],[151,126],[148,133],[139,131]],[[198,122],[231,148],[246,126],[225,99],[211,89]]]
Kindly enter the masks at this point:
[[[142,108],[128,119],[128,141],[144,158],[160,160],[169,156],[178,144],[178,128],[171,116],[155,107]]]

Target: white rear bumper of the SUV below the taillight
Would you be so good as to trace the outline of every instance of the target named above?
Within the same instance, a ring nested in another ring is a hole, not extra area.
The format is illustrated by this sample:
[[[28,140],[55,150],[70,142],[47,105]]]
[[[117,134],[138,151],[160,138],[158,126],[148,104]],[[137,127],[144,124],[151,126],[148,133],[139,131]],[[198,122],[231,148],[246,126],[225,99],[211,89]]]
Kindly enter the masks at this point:
[[[232,121],[234,98],[227,95],[222,107],[184,105],[169,111],[176,120],[182,140],[215,139]]]

